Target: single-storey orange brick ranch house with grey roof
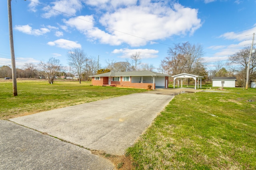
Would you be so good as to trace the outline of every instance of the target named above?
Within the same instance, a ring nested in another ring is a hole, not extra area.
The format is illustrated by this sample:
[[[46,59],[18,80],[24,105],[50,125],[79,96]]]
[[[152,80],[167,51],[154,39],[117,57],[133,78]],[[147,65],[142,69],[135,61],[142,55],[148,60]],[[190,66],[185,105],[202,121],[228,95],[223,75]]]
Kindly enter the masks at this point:
[[[152,71],[106,72],[92,77],[94,86],[117,86],[152,89],[168,88],[168,75]]]

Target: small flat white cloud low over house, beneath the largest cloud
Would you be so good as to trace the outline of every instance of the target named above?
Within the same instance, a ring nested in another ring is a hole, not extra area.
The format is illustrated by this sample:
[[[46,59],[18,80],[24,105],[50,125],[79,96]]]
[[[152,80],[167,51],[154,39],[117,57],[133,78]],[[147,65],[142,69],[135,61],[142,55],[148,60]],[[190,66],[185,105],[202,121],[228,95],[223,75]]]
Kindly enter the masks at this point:
[[[154,49],[115,49],[113,54],[121,54],[120,58],[130,58],[132,54],[140,52],[141,59],[152,59],[158,57],[157,50]]]

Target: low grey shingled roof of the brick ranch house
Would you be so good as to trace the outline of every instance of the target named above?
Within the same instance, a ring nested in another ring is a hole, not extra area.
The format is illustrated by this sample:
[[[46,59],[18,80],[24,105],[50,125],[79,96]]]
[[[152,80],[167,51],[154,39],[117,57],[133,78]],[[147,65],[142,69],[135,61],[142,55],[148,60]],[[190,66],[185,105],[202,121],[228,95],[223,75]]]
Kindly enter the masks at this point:
[[[153,71],[128,71],[128,72],[106,72],[102,74],[96,74],[89,77],[119,77],[119,76],[160,76],[169,77],[167,74],[162,74]]]

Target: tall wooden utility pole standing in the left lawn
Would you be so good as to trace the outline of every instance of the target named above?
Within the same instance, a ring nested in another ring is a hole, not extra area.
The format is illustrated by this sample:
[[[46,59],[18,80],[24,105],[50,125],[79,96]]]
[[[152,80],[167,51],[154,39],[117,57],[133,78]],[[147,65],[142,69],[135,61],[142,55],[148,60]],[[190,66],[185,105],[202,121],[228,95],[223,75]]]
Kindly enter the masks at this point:
[[[17,80],[16,80],[16,64],[15,64],[14,45],[13,45],[13,33],[12,33],[12,7],[11,7],[11,0],[7,0],[7,4],[8,4],[10,50],[11,50],[11,58],[12,58],[12,92],[13,92],[13,96],[18,96]]]

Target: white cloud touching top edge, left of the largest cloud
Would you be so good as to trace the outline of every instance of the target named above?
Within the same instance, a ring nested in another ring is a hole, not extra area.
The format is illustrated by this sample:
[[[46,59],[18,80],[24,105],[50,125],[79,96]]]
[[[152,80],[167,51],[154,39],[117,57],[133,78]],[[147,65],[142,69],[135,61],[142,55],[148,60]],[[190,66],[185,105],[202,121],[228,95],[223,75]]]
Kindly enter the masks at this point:
[[[51,18],[52,16],[58,16],[60,14],[65,15],[65,13],[74,16],[78,10],[82,9],[80,0],[57,0],[51,4],[53,5],[43,8],[46,13],[42,14],[42,17]]]

